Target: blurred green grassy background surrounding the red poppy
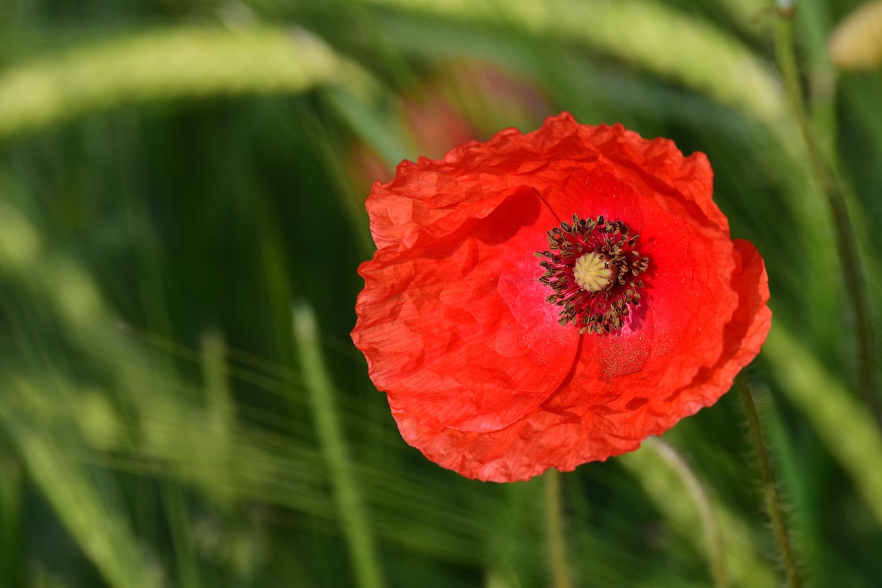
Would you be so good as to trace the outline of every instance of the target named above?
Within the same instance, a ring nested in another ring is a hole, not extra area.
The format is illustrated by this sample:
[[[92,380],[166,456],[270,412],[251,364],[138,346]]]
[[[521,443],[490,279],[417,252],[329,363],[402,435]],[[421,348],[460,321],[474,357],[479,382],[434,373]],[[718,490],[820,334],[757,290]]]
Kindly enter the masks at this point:
[[[796,39],[875,301],[882,68],[827,53],[858,4],[801,3]],[[0,585],[549,585],[546,479],[425,460],[348,333],[370,183],[564,109],[710,157],[770,275],[747,375],[804,576],[882,585],[882,437],[775,19],[765,0],[0,1]],[[734,394],[561,482],[574,585],[781,583]]]

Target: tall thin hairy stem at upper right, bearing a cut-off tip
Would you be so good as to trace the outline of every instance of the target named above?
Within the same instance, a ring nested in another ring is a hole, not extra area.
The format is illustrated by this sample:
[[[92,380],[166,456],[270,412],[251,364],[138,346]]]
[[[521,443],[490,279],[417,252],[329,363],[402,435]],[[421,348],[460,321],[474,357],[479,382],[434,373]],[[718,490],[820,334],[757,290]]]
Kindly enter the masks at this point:
[[[778,8],[778,27],[775,49],[778,67],[784,91],[788,95],[791,108],[796,115],[800,131],[803,134],[805,147],[809,155],[811,170],[830,207],[833,216],[833,229],[836,236],[836,249],[839,253],[842,273],[845,278],[845,290],[848,303],[855,320],[855,341],[857,355],[857,381],[873,417],[876,426],[882,432],[882,405],[876,394],[875,351],[873,343],[870,305],[867,300],[863,282],[861,261],[857,251],[857,243],[851,221],[848,219],[848,207],[841,185],[833,174],[833,164],[825,155],[809,122],[804,102],[804,94],[799,84],[796,67],[796,54],[793,49],[793,2],[780,2]]]

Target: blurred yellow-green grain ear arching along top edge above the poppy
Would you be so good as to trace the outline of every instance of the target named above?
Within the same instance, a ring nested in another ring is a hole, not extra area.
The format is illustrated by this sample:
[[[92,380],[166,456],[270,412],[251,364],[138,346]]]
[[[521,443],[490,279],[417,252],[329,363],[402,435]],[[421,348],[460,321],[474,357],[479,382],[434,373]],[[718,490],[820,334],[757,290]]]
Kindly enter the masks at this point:
[[[773,127],[781,124],[783,96],[766,63],[710,23],[652,0],[358,1],[579,42],[679,80]]]

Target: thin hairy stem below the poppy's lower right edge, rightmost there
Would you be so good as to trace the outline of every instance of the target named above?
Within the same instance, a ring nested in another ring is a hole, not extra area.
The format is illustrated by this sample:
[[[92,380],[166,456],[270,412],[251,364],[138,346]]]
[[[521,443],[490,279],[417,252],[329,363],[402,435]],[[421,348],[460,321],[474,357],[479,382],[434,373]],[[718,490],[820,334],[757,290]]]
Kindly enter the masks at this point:
[[[774,471],[769,460],[769,454],[766,450],[766,441],[763,439],[763,430],[759,422],[759,412],[757,405],[753,401],[753,393],[751,387],[744,380],[743,375],[738,375],[735,380],[735,387],[738,388],[738,394],[744,403],[744,414],[747,417],[747,431],[751,438],[751,445],[757,454],[757,464],[759,464],[759,477],[763,488],[763,498],[766,501],[766,511],[772,522],[772,530],[774,538],[778,542],[778,549],[781,551],[781,562],[787,572],[787,583],[789,588],[799,588],[803,585],[803,580],[799,576],[799,569],[796,566],[796,556],[793,554],[793,545],[790,541],[790,534],[787,524],[784,521],[784,511],[781,509],[781,500],[778,497],[778,489],[775,487]]]

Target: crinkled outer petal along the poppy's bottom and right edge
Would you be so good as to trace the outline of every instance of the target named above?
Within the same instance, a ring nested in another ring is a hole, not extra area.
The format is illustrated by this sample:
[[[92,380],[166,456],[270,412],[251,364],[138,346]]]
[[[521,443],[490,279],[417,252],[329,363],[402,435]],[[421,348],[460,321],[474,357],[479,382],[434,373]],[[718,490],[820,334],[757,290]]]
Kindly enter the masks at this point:
[[[766,340],[772,316],[766,306],[766,268],[752,245],[734,243],[731,287],[738,294],[738,305],[724,326],[727,343],[721,356],[703,366],[684,388],[669,389],[667,397],[646,402],[642,398],[609,402],[617,396],[615,382],[599,382],[594,396],[583,398],[572,386],[579,378],[577,371],[564,393],[503,430],[477,434],[434,429],[393,409],[402,435],[437,464],[468,478],[497,482],[530,479],[549,467],[570,471],[639,448],[647,436],[663,433],[681,418],[715,403]],[[604,390],[608,396],[603,396]]]

